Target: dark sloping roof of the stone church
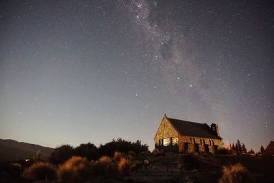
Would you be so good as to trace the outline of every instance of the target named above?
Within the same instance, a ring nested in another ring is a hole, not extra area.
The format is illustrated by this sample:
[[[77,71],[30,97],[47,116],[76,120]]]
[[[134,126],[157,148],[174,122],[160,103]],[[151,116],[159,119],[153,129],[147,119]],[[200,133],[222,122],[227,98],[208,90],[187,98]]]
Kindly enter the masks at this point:
[[[180,119],[172,119],[166,117],[171,125],[179,132],[179,134],[184,136],[197,136],[203,138],[221,138],[214,134],[210,126],[206,123],[195,123],[190,121],[183,121]]]

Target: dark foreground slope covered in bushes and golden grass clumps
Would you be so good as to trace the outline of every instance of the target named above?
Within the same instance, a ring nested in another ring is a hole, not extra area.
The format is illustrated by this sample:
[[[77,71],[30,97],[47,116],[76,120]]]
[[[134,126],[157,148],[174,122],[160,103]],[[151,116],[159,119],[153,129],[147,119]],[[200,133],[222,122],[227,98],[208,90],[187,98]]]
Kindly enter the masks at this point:
[[[1,164],[0,182],[274,182],[269,154],[175,154],[140,141],[114,140],[97,148],[91,143],[55,148],[49,160]]]

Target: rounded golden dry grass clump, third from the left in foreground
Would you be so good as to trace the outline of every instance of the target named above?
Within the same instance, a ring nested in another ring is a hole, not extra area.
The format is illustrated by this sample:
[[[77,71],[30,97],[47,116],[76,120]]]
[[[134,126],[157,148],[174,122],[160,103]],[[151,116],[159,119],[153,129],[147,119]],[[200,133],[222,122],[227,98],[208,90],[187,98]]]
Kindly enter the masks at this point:
[[[108,156],[101,156],[94,164],[93,173],[97,175],[116,175],[117,167],[112,158]]]

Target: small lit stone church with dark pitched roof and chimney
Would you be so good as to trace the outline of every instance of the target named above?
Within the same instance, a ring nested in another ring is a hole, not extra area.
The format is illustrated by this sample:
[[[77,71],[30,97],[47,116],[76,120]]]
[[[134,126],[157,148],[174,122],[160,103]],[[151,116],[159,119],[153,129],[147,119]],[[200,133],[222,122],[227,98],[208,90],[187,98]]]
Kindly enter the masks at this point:
[[[216,153],[223,147],[218,125],[195,123],[166,117],[154,137],[155,147],[178,145],[182,153]]]

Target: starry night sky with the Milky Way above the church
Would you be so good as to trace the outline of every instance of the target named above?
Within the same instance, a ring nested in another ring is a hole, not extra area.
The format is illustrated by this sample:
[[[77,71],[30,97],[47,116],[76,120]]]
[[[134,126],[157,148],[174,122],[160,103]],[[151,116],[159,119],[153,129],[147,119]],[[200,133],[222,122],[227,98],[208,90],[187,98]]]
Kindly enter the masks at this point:
[[[1,1],[0,138],[141,140],[164,113],[274,139],[273,1]]]

